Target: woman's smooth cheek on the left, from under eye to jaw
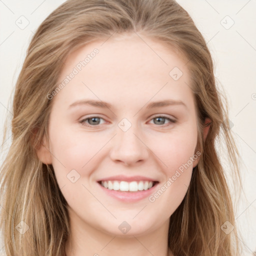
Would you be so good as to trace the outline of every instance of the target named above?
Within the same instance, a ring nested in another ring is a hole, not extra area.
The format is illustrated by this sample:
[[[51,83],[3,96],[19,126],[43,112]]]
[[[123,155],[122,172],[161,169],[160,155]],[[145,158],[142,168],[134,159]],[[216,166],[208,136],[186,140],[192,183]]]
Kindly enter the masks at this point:
[[[99,163],[100,149],[107,140],[106,135],[89,132],[62,129],[61,133],[52,133],[52,166],[61,192],[70,206],[81,207],[85,199],[88,203],[94,201],[85,187]]]

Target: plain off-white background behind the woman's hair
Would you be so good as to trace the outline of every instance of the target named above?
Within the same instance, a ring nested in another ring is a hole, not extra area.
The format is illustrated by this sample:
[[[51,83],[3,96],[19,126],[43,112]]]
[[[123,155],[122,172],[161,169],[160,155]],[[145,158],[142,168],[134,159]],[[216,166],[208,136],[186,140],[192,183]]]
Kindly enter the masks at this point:
[[[38,25],[62,2],[0,0],[1,138],[6,113],[11,112],[9,99],[29,41]],[[256,250],[256,0],[177,2],[204,36],[214,61],[215,76],[229,101],[231,130],[243,159],[241,175],[247,197],[238,206],[236,221],[244,239],[243,254],[252,255]],[[29,23],[23,28],[26,22]],[[0,141],[8,145],[10,138]]]

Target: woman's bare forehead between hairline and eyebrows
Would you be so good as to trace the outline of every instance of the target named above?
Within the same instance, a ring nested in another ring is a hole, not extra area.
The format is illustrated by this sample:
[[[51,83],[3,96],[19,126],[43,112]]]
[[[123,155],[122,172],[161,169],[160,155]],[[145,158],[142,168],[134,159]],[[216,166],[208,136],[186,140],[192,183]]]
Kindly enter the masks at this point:
[[[184,58],[171,47],[136,33],[93,41],[71,52],[58,83],[72,72],[75,75],[57,95],[66,94],[67,103],[83,95],[121,98],[122,102],[127,97],[156,100],[167,95],[188,100],[192,95]]]

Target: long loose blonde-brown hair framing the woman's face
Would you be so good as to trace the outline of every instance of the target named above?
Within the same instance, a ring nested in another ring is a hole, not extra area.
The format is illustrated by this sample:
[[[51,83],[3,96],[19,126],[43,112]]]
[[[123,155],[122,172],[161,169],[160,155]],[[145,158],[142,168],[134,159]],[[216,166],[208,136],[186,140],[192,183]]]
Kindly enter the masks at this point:
[[[43,164],[35,151],[47,135],[51,100],[46,95],[56,88],[71,51],[113,33],[132,31],[159,40],[185,57],[196,99],[201,156],[184,199],[170,216],[168,246],[175,256],[239,255],[234,210],[217,143],[227,150],[237,185],[239,154],[209,49],[187,11],[174,0],[68,0],[38,27],[16,81],[12,142],[0,168],[0,226],[7,256],[65,255],[67,202],[52,166]],[[211,124],[203,141],[206,117]],[[229,234],[221,228],[227,220],[234,226]]]

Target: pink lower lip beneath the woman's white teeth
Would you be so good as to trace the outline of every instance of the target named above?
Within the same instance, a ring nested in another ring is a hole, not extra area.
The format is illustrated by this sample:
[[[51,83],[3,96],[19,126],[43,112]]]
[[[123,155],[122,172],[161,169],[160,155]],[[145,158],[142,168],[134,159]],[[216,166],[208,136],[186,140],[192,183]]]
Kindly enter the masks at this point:
[[[149,195],[152,193],[152,191],[157,187],[159,183],[156,183],[154,186],[147,190],[141,190],[136,192],[110,190],[100,185],[98,182],[97,184],[103,189],[103,191],[107,195],[112,196],[115,199],[125,202],[134,202],[149,197]]]

